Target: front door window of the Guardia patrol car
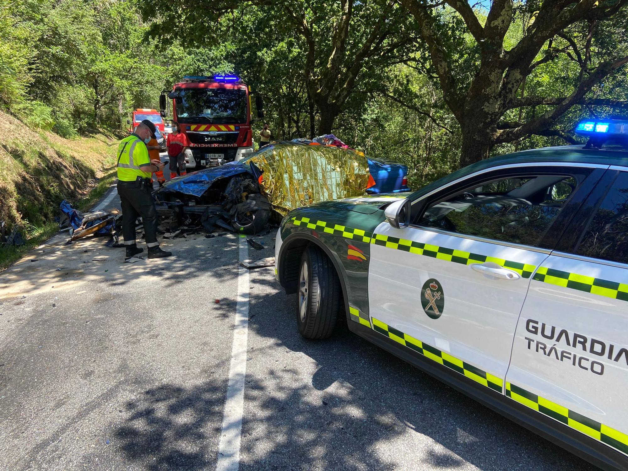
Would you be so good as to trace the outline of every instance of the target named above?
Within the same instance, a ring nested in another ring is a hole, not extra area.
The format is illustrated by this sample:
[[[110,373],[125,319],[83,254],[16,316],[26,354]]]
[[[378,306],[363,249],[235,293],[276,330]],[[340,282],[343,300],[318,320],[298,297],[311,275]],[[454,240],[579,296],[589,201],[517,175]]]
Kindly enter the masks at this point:
[[[538,246],[576,186],[566,175],[487,181],[431,203],[418,225]]]

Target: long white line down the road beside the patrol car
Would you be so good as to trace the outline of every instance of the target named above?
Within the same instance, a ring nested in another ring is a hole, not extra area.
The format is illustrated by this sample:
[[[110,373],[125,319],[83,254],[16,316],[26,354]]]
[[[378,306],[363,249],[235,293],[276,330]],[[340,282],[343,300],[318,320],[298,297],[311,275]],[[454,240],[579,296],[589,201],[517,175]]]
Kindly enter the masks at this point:
[[[240,261],[247,261],[249,246],[246,237],[239,237]],[[240,466],[240,436],[244,412],[244,381],[246,379],[246,348],[249,332],[249,271],[240,267],[237,279],[237,305],[234,340],[231,347],[229,384],[222,418],[216,471],[237,471]]]

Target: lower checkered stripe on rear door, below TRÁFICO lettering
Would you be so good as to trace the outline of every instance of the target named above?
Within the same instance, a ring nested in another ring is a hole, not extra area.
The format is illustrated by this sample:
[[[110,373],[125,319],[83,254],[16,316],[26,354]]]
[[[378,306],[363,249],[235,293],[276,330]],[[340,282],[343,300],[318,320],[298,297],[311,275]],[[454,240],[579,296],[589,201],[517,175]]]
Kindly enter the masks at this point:
[[[506,382],[506,396],[628,454],[628,435]]]

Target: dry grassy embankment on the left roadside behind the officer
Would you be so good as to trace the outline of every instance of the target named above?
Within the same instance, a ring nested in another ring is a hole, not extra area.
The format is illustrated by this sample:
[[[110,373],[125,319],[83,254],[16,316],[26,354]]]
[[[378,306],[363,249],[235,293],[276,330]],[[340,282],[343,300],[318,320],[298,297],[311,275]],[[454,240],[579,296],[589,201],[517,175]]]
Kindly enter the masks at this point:
[[[22,247],[0,247],[0,270],[58,231],[63,199],[87,210],[107,191],[120,138],[97,131],[64,139],[0,112],[0,221],[18,225],[28,239]]]

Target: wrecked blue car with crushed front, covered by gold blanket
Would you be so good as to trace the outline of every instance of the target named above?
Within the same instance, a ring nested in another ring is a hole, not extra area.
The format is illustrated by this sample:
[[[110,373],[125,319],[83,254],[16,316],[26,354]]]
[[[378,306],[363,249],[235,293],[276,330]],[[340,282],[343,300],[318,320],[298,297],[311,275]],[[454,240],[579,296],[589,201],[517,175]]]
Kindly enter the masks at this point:
[[[313,203],[409,191],[408,167],[313,141],[272,143],[244,160],[166,181],[158,212],[178,225],[214,225],[256,234],[269,219]]]

